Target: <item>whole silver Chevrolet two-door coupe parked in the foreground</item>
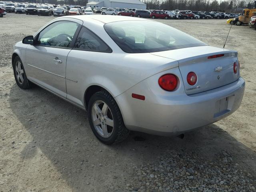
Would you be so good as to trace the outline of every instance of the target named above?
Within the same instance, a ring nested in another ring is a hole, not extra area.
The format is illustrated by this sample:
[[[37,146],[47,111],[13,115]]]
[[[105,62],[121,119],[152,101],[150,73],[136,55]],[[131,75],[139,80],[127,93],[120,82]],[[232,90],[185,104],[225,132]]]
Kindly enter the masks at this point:
[[[32,84],[88,111],[105,144],[130,130],[178,135],[236,111],[244,95],[237,52],[165,24],[123,16],[66,16],[13,49],[20,88]]]

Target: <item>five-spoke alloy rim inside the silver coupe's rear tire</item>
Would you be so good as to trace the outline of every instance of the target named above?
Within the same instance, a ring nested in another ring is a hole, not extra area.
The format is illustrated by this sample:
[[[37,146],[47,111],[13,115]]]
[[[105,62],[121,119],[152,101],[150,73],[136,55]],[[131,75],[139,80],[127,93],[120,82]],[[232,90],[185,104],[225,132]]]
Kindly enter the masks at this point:
[[[112,112],[102,100],[97,100],[92,106],[92,122],[100,136],[108,138],[112,135],[114,130]]]

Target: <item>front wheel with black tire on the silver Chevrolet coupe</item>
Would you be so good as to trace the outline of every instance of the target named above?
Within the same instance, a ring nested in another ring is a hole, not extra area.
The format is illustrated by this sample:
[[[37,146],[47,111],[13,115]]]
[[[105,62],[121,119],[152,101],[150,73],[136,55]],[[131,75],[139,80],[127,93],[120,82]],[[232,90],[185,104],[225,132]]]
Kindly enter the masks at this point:
[[[30,88],[32,83],[28,80],[23,64],[18,56],[14,58],[12,68],[17,85],[22,89]]]

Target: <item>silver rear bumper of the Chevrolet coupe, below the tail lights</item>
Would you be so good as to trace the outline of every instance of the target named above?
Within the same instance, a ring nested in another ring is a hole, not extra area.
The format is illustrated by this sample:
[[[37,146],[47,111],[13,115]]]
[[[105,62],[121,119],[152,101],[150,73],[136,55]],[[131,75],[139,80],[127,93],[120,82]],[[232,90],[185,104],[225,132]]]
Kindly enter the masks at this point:
[[[130,130],[161,136],[178,135],[229,116],[239,108],[244,95],[245,81],[241,77],[231,84],[192,95],[174,92],[157,95],[146,89],[157,80],[150,78],[115,98],[124,124]],[[134,99],[132,93],[142,94],[146,99]],[[216,112],[216,103],[227,97],[226,109]]]

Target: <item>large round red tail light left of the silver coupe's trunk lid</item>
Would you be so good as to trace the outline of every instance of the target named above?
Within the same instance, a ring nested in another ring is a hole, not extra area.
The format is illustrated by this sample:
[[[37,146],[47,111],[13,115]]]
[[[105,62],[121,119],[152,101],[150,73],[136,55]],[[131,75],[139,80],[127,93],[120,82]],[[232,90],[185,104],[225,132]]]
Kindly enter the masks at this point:
[[[178,84],[177,77],[174,74],[165,74],[158,79],[159,86],[166,91],[173,91]]]

